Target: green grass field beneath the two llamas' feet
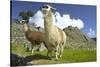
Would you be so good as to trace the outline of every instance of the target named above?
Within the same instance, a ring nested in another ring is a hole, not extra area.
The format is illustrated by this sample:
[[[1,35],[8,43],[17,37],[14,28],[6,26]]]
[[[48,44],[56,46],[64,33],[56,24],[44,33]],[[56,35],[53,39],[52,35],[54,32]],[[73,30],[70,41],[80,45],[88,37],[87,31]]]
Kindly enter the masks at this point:
[[[46,56],[47,51],[35,52],[31,54],[26,51],[22,44],[12,44],[11,53],[21,56],[23,63],[20,65],[39,65],[39,64],[58,64],[58,63],[77,63],[77,62],[94,62],[96,61],[96,50],[83,50],[83,49],[64,49],[63,56],[58,61],[55,61],[53,52],[53,59],[49,60]],[[13,62],[14,63],[14,62]]]

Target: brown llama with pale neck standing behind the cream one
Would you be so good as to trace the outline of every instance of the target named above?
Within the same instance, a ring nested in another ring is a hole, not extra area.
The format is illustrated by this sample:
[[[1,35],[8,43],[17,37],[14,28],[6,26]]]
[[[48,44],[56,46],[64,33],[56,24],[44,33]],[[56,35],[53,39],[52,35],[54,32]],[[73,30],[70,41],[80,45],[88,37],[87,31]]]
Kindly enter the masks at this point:
[[[40,43],[44,43],[45,45],[45,40],[44,40],[44,33],[43,32],[37,32],[37,31],[31,31],[29,28],[28,23],[24,23],[24,32],[25,36],[28,41],[31,42],[32,46],[32,54],[34,52],[33,47],[36,45],[40,45]],[[46,47],[46,45],[45,45]]]

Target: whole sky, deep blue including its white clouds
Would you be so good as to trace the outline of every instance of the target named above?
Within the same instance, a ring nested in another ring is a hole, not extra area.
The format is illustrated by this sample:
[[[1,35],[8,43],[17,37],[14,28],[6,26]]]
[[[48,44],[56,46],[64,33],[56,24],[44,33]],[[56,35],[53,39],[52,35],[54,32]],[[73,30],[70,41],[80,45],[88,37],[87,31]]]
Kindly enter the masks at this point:
[[[21,19],[18,16],[19,12],[31,10],[34,16],[30,17],[29,22],[41,27],[44,27],[44,20],[39,8],[44,4],[49,4],[56,8],[55,24],[58,27],[63,29],[72,25],[78,27],[89,37],[96,37],[96,6],[26,1],[12,1],[10,4],[11,18]]]

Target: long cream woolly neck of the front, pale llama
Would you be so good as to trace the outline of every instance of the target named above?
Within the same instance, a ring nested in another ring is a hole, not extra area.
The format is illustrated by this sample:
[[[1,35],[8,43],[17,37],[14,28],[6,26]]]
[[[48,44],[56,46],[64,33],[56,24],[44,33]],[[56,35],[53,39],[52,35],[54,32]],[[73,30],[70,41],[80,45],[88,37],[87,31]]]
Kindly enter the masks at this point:
[[[49,33],[50,31],[52,31],[53,26],[54,26],[54,15],[52,12],[49,12],[48,15],[44,16],[45,32]]]

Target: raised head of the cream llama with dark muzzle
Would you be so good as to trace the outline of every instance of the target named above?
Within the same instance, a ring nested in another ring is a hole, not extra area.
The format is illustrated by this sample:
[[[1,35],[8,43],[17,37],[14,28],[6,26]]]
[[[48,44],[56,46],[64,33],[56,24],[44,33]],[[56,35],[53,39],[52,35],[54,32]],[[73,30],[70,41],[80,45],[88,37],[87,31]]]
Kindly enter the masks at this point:
[[[43,14],[46,16],[49,14],[49,12],[54,13],[56,9],[51,7],[50,5],[44,5],[41,7],[41,10]]]

